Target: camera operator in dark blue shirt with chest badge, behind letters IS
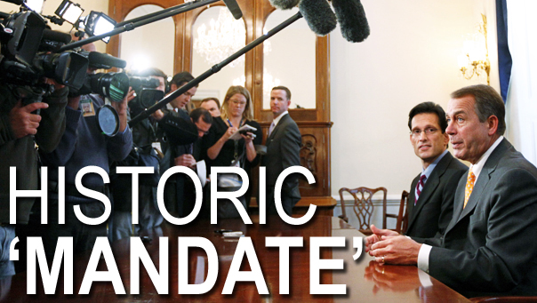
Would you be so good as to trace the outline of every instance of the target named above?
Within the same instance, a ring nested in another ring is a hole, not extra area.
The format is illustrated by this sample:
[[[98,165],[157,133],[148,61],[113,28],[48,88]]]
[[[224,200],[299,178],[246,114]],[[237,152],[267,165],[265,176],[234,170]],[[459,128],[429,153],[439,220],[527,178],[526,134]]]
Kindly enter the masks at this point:
[[[84,45],[89,52],[95,50],[93,44]],[[92,73],[92,68],[88,73]],[[49,208],[48,224],[37,225],[44,242],[47,259],[52,261],[56,243],[60,236],[73,237],[74,251],[92,249],[97,236],[106,236],[106,223],[98,226],[85,225],[76,218],[74,206],[80,205],[86,217],[98,218],[104,212],[100,201],[81,195],[75,186],[76,173],[89,165],[99,166],[109,172],[109,160],[123,160],[132,148],[132,132],[127,127],[127,102],[133,98],[129,91],[121,102],[112,102],[119,116],[119,132],[112,137],[101,133],[96,113],[104,105],[104,100],[95,94],[69,96],[66,108],[66,130],[58,148],[52,153],[40,153],[44,165],[49,167]],[[65,225],[58,223],[58,167],[65,166]],[[87,174],[82,179],[84,187],[108,195],[108,187],[97,174]],[[30,218],[33,224],[39,224],[41,217],[40,205],[36,204]]]

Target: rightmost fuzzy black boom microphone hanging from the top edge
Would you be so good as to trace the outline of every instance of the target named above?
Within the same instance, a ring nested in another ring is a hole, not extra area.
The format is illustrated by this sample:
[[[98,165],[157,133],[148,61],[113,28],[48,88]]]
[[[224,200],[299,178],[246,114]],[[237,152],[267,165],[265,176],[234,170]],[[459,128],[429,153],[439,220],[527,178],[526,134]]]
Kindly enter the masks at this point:
[[[347,41],[362,42],[369,36],[369,24],[360,0],[332,0],[332,6],[340,22],[341,35]]]

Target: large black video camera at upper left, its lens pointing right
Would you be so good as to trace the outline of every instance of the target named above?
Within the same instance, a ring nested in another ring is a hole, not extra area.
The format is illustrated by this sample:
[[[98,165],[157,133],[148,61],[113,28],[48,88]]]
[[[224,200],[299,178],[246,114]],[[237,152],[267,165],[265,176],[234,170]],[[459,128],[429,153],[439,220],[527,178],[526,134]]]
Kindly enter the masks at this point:
[[[58,52],[71,36],[46,29],[44,16],[29,9],[26,1],[20,12],[0,12],[0,82],[14,87],[26,86],[36,95],[52,92],[43,84],[48,77],[69,87],[69,95],[99,93],[112,101],[124,99],[129,79],[124,73],[87,75],[88,68],[124,68],[126,62],[100,52],[81,49]],[[47,18],[52,18],[46,16]]]

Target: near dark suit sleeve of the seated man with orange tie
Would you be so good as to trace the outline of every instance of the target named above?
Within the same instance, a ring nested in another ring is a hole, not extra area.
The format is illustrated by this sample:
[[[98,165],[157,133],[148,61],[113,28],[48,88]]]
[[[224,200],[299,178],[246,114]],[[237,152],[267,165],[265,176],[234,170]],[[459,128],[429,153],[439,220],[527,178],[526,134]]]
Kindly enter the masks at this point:
[[[469,233],[483,233],[485,243],[469,235],[465,251],[433,247],[429,274],[457,290],[509,291],[523,283],[537,255],[536,197],[534,173],[504,172],[490,199],[479,202],[485,211],[470,217]]]

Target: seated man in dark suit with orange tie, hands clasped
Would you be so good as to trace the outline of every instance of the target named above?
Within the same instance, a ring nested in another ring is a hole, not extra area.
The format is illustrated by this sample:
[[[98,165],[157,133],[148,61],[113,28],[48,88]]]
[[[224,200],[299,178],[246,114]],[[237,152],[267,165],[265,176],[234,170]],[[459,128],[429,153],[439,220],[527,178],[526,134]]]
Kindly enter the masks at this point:
[[[471,166],[440,245],[372,226],[366,251],[378,262],[417,264],[469,297],[537,295],[537,169],[503,138],[500,95],[487,85],[462,88],[446,114],[454,155]]]

